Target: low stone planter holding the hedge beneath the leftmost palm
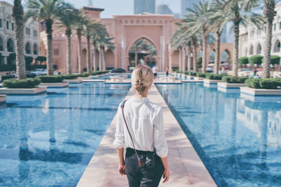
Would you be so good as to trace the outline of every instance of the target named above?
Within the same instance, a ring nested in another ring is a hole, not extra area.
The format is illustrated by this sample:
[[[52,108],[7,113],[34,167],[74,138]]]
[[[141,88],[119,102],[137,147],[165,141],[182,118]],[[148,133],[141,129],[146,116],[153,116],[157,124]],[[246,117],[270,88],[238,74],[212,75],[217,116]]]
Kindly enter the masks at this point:
[[[46,92],[46,86],[36,88],[0,88],[0,94],[6,95],[39,95]]]

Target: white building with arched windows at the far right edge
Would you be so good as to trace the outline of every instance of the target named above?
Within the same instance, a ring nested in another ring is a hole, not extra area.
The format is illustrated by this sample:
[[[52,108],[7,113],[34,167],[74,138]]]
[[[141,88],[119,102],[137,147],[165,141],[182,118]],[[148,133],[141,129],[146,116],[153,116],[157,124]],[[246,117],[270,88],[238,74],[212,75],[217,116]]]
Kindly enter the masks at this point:
[[[281,56],[281,3],[275,7],[277,15],[273,20],[271,55]],[[262,55],[264,56],[264,45],[266,40],[266,27],[259,29],[254,24],[239,27],[239,57]]]

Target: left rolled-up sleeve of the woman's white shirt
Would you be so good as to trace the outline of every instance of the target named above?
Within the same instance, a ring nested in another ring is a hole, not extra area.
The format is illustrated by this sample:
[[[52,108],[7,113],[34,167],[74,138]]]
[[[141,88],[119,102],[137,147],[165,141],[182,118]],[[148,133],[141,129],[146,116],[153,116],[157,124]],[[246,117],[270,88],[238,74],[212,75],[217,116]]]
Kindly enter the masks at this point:
[[[122,116],[122,109],[121,104],[118,107],[117,110],[117,120],[116,120],[116,133],[115,133],[115,140],[113,141],[113,145],[115,145],[117,148],[121,149],[124,147],[124,127],[123,127],[123,116]]]

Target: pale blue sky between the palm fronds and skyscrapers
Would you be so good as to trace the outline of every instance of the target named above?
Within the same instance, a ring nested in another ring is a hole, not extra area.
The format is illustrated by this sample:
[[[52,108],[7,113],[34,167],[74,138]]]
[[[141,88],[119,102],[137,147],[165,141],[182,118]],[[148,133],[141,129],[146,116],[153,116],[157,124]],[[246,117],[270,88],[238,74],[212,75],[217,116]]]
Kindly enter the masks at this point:
[[[5,0],[13,4],[12,0]],[[24,2],[25,0],[23,0]],[[71,2],[76,8],[86,6],[88,0],[65,0]],[[94,7],[104,8],[101,18],[112,18],[113,15],[134,14],[134,0],[91,0]],[[180,12],[180,0],[156,0],[156,5],[160,3],[168,4],[173,12]]]

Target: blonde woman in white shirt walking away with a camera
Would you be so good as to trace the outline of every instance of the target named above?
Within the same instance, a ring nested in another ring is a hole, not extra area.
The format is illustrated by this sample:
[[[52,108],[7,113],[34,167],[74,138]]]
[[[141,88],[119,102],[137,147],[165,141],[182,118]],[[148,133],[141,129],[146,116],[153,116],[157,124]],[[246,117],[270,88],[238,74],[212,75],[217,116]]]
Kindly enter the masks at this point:
[[[119,173],[127,175],[130,187],[157,187],[162,175],[163,183],[170,177],[162,108],[147,98],[152,81],[152,70],[138,65],[131,76],[136,94],[120,103],[117,111],[113,144],[119,156]]]

